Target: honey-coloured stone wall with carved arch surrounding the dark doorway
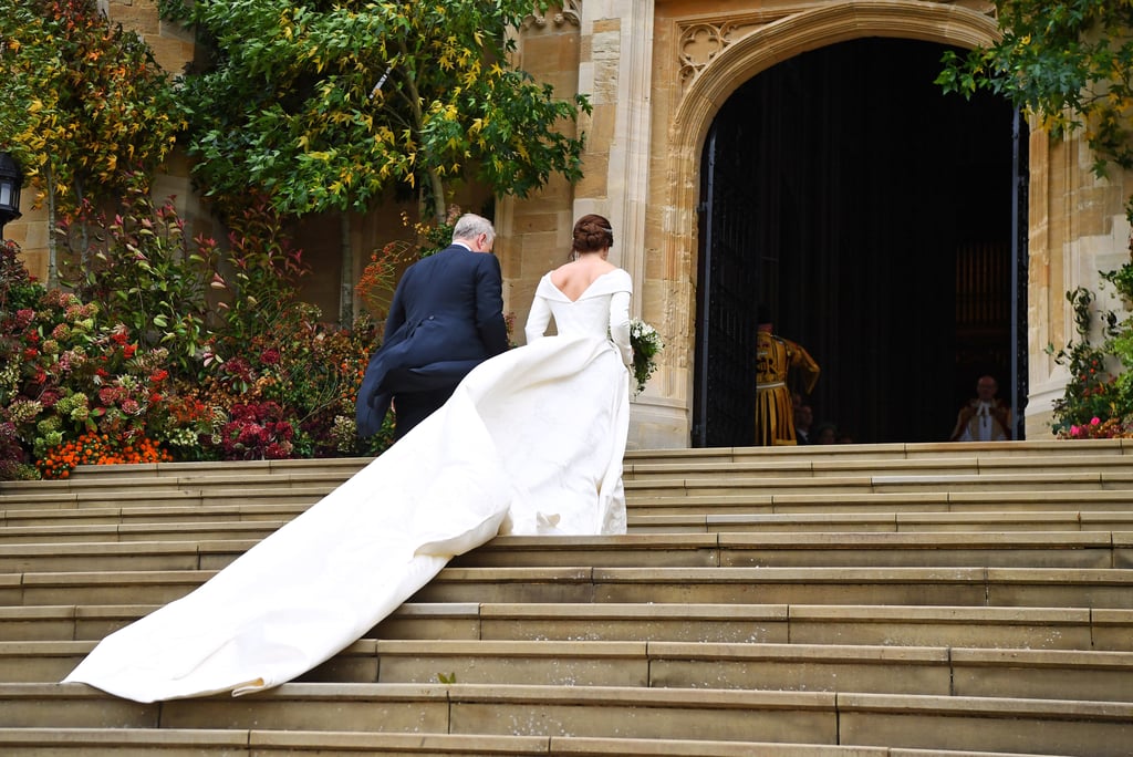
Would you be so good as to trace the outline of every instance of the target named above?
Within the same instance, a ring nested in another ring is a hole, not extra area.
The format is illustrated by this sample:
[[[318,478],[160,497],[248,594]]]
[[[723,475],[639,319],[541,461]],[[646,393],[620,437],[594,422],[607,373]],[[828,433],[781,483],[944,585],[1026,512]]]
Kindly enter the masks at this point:
[[[761,70],[834,42],[895,36],[972,46],[995,39],[991,6],[979,0],[566,0],[533,15],[519,31],[519,63],[561,96],[587,93],[593,116],[586,178],[555,180],[536,195],[496,206],[497,254],[505,307],[521,334],[539,277],[565,260],[573,219],[602,213],[614,226],[613,262],[634,281],[633,314],[661,331],[658,373],[634,400],[631,448],[690,444],[695,376],[698,164],[705,135],[729,95]],[[139,31],[170,70],[194,54],[184,31],[156,19],[153,0],[109,0],[110,17]],[[1051,144],[1031,125],[1030,389],[1026,433],[1049,435],[1050,402],[1065,372],[1046,356],[1072,332],[1065,291],[1097,289],[1098,271],[1126,260],[1123,204],[1128,176],[1098,180],[1091,156],[1072,139]],[[173,163],[157,192],[176,194],[193,222],[207,224],[184,165]],[[7,227],[36,275],[45,273],[46,223],[31,209]],[[397,232],[393,213],[353,219],[356,273],[369,250]],[[381,218],[377,218],[381,216]],[[384,220],[383,220],[384,219]],[[1113,304],[1104,300],[1104,304]],[[521,340],[521,335],[519,337]]]

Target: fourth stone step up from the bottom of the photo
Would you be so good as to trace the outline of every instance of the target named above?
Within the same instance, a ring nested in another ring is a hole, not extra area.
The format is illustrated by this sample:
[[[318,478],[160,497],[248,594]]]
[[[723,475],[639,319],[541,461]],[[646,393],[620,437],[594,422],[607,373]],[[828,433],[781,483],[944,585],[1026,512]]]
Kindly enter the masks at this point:
[[[0,606],[0,640],[94,641],[159,606]],[[791,643],[1133,652],[1133,610],[407,602],[365,637],[389,640]]]

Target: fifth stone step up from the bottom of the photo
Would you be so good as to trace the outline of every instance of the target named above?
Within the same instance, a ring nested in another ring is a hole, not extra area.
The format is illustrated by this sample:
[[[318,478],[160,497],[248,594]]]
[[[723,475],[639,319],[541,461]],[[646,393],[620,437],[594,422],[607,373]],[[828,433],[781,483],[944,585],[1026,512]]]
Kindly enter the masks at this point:
[[[0,573],[0,605],[163,604],[215,570]],[[459,568],[416,602],[1133,607],[1133,571],[1092,568]]]

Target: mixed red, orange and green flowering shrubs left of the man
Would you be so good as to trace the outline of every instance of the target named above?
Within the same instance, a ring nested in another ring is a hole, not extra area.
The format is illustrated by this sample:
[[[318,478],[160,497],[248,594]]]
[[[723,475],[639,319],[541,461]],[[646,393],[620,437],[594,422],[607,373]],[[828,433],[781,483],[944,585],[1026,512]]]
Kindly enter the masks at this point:
[[[172,206],[143,198],[105,227],[96,215],[82,226],[78,250],[97,269],[80,282],[90,299],[41,287],[14,244],[0,248],[0,479],[96,462],[377,454],[392,443],[389,422],[365,441],[355,426],[374,324],[332,328],[298,299],[288,281],[299,256],[270,209],[241,216],[225,257],[212,240],[190,249]],[[202,280],[231,299],[206,304]],[[177,330],[188,321],[191,334]]]

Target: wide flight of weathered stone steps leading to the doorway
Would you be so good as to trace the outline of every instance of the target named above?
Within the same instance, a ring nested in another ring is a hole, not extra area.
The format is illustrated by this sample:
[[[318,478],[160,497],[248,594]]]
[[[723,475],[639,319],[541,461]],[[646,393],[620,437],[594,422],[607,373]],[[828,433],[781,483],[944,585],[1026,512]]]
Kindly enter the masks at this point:
[[[1133,444],[630,452],[276,689],[60,684],[364,460],[0,484],[2,755],[1133,755]]]

